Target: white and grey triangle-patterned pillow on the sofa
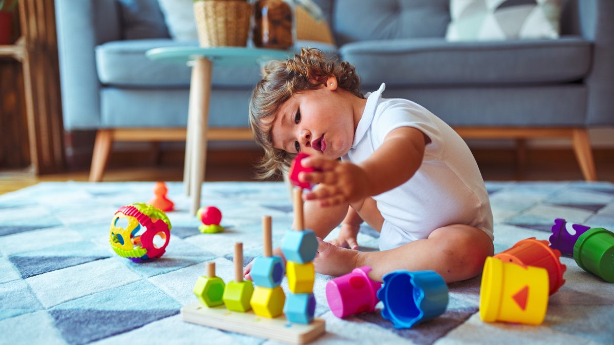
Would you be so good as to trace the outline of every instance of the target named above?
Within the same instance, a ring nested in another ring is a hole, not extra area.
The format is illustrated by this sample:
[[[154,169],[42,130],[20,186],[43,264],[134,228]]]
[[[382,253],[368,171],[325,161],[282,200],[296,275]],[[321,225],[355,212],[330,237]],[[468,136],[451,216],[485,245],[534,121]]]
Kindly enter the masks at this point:
[[[448,41],[559,38],[562,0],[451,0]]]

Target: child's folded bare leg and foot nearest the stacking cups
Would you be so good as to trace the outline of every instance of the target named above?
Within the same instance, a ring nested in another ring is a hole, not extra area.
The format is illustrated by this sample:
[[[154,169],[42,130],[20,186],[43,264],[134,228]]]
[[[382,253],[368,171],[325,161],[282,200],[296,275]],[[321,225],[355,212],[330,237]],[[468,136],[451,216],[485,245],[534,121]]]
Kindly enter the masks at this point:
[[[465,224],[444,226],[427,239],[415,240],[382,252],[357,252],[321,242],[314,260],[316,272],[341,276],[360,266],[370,266],[369,276],[382,277],[397,269],[432,270],[446,282],[465,280],[480,274],[486,256],[494,247],[486,232]]]

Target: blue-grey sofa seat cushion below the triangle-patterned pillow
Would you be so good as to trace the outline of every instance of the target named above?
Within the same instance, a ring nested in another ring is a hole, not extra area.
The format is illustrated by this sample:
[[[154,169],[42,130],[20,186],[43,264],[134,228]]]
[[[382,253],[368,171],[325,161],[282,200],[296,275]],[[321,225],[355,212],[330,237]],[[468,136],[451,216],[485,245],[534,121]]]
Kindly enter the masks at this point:
[[[521,84],[586,76],[592,44],[582,38],[498,42],[362,41],[341,47],[365,85]]]

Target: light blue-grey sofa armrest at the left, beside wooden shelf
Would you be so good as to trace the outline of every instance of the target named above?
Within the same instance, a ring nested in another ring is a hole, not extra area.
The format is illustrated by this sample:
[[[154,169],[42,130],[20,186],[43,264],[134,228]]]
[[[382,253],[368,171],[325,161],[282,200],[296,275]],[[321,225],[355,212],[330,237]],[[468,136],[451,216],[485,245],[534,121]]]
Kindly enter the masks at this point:
[[[98,129],[95,47],[121,39],[115,0],[55,0],[64,128]]]

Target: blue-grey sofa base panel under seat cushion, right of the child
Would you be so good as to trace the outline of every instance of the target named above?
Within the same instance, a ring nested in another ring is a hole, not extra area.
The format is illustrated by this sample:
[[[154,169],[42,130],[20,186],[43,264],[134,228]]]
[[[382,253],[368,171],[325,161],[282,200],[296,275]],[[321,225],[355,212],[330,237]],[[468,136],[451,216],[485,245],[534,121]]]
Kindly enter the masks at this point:
[[[362,88],[362,92],[376,90]],[[548,127],[586,124],[586,86],[398,87],[384,98],[405,98],[451,126]]]

